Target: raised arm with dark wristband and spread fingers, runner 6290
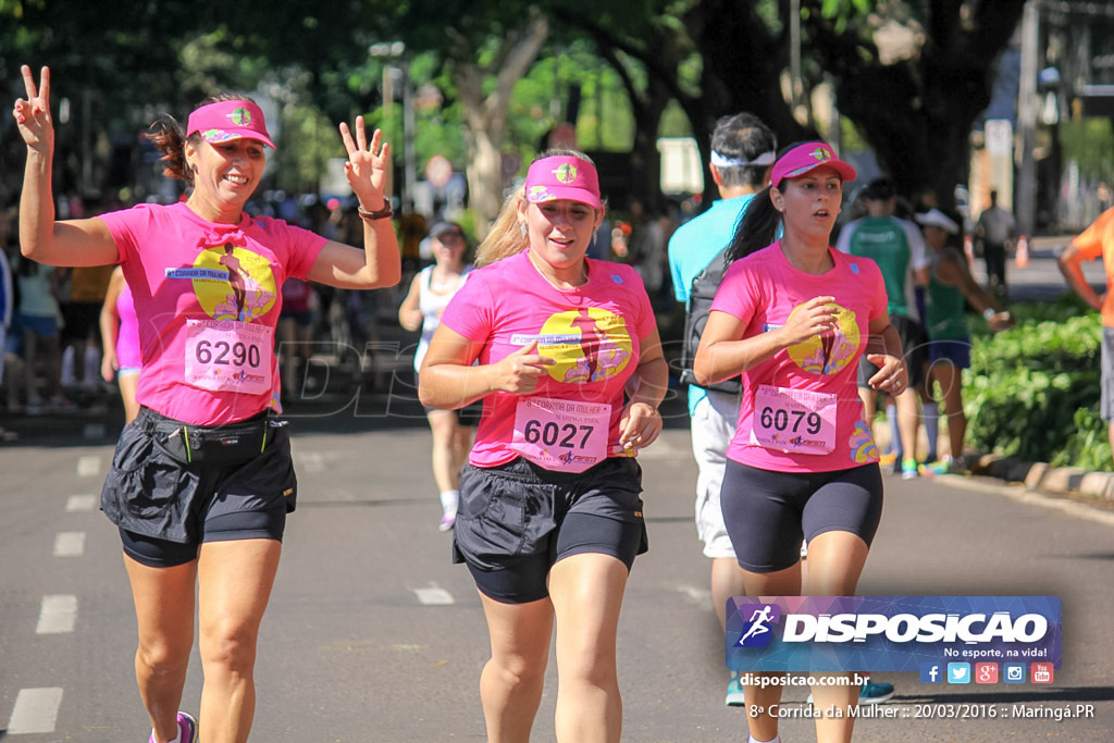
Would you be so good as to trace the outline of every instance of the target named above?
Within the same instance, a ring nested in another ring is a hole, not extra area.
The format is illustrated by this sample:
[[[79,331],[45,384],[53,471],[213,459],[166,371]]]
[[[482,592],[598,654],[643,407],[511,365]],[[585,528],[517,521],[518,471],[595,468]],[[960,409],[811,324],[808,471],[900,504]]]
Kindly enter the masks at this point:
[[[362,116],[355,118],[354,140],[348,124],[341,124],[340,128],[349,153],[344,176],[360,201],[363,217],[363,251],[330,241],[321,248],[307,277],[338,289],[394,286],[402,277],[402,256],[390,219],[390,202],[383,193],[391,146],[382,141],[382,133],[375,129],[369,148]],[[382,216],[369,217],[364,213]]]

